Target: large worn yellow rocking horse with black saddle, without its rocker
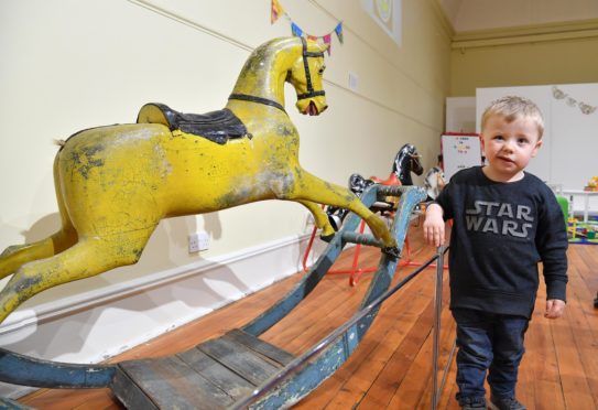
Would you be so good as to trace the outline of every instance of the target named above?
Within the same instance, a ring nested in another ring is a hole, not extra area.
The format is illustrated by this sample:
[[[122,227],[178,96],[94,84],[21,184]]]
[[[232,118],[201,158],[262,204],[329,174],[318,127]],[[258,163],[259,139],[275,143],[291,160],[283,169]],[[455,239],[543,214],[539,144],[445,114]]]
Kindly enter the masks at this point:
[[[48,288],[135,263],[162,218],[262,199],[296,201],[334,234],[317,203],[344,207],[370,226],[387,252],[396,241],[347,188],[298,163],[300,136],[284,110],[284,83],[303,114],[326,109],[324,51],[302,37],[272,40],[246,62],[226,108],[205,115],[142,107],[137,123],[69,137],[54,161],[59,231],[0,256],[0,322]]]

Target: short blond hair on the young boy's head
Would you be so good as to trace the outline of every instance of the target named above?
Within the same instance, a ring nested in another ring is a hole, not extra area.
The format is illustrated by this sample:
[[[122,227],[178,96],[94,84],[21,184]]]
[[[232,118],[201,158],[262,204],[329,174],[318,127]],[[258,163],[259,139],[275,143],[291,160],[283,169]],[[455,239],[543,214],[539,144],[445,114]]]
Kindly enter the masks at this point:
[[[532,102],[532,100],[523,97],[507,96],[493,100],[481,115],[481,130],[486,128],[486,122],[492,116],[503,117],[507,122],[512,122],[519,118],[530,118],[537,126],[537,140],[542,139],[544,133],[544,119],[542,111]]]

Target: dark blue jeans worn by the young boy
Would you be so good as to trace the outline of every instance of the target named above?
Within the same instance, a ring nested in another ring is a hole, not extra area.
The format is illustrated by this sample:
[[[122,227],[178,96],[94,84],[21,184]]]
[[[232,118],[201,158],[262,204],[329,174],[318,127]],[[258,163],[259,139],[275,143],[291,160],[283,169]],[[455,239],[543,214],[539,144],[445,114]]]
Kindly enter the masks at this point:
[[[457,400],[460,406],[486,403],[483,379],[492,396],[514,398],[519,364],[523,357],[525,316],[454,309],[457,322]]]

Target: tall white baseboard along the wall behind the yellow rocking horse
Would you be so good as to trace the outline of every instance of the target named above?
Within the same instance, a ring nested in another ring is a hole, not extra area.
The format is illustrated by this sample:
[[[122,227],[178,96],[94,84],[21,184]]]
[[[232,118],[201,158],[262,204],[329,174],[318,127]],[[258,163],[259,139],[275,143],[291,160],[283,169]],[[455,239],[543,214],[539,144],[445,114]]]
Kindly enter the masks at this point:
[[[106,360],[300,271],[307,240],[283,238],[14,312],[0,325],[0,346],[56,362]],[[0,384],[3,397],[29,390]]]

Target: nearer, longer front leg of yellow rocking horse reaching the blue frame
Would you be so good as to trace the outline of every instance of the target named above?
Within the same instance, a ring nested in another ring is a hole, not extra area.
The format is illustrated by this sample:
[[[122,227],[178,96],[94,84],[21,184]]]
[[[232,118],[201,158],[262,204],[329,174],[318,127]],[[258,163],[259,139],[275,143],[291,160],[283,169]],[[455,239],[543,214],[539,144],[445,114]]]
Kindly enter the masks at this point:
[[[396,253],[396,239],[390,233],[387,224],[373,214],[348,188],[323,181],[308,172],[303,171],[297,175],[292,192],[286,196],[292,201],[311,201],[326,205],[349,209],[359,215],[370,227],[373,236],[384,244],[389,253]]]

